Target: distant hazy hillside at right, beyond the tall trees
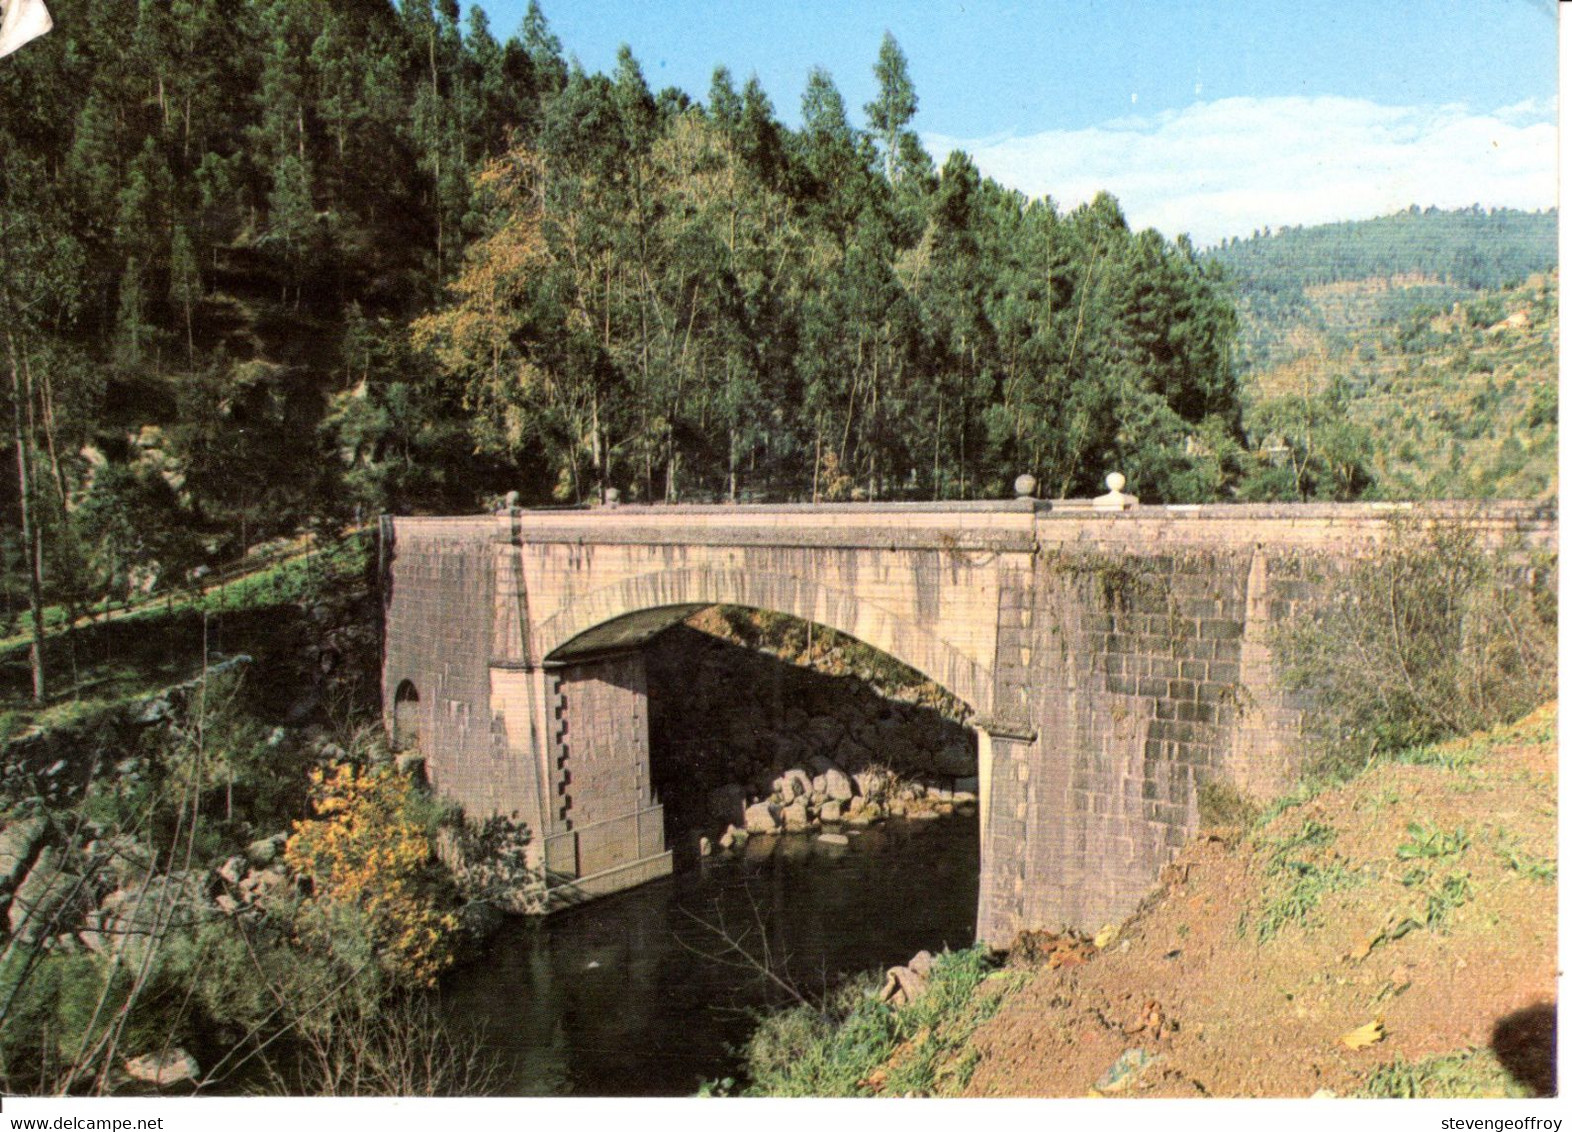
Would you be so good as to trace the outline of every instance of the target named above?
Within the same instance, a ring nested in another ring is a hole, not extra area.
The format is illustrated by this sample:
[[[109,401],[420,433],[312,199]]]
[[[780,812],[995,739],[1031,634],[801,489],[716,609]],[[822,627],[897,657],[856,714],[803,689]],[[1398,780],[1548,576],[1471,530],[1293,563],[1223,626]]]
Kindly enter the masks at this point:
[[[1409,209],[1207,259],[1234,288],[1250,445],[1281,472],[1258,495],[1556,494],[1555,211]]]

